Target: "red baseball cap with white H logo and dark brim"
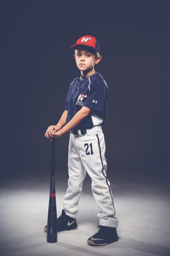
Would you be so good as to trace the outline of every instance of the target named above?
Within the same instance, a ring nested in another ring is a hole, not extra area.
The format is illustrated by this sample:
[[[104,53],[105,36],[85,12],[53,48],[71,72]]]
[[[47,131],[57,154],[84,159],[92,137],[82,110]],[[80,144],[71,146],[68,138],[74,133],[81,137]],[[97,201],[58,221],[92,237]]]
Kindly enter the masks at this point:
[[[86,46],[92,47],[93,49],[98,51],[100,54],[100,45],[94,36],[89,36],[89,35],[82,36],[78,39],[76,44],[73,44],[70,48],[72,50],[75,50],[75,49],[77,49],[78,45],[86,45]]]

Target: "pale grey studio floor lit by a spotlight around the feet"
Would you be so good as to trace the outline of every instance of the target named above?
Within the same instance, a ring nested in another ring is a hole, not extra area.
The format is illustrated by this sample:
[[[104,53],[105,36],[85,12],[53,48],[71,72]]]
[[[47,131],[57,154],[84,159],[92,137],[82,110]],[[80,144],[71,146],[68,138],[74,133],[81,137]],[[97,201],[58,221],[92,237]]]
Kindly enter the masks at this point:
[[[108,179],[118,218],[118,242],[94,247],[87,238],[97,231],[99,211],[91,193],[88,175],[77,217],[78,230],[58,233],[58,242],[46,242],[49,199],[49,170],[21,171],[1,180],[1,256],[43,255],[170,255],[170,189],[160,173],[109,170]],[[66,170],[57,170],[57,215],[61,215],[62,199],[67,188]]]

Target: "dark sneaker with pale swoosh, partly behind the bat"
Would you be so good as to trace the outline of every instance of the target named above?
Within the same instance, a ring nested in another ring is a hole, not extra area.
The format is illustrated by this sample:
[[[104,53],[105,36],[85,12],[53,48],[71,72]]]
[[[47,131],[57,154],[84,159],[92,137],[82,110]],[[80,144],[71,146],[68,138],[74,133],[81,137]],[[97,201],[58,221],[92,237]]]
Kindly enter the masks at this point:
[[[44,229],[45,229],[45,232],[47,232],[47,226],[45,226]],[[64,230],[75,230],[75,229],[78,229],[76,219],[66,215],[64,210],[62,210],[61,216],[57,219],[57,231],[61,232]]]

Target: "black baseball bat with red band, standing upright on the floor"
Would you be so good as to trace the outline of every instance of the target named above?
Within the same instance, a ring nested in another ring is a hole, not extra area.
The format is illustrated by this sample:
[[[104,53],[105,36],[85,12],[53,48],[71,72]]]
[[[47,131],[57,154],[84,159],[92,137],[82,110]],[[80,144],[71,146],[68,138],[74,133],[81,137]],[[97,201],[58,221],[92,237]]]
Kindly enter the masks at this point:
[[[57,242],[57,207],[55,196],[55,138],[51,142],[50,191],[47,219],[47,242]]]

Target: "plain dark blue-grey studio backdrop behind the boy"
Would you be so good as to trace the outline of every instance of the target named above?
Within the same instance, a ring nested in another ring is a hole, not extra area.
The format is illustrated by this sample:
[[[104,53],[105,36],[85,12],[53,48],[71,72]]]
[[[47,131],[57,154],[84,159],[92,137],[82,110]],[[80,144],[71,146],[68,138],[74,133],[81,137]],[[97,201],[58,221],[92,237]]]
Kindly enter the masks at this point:
[[[49,167],[44,134],[79,75],[70,46],[92,35],[102,55],[95,69],[109,90],[108,166],[167,174],[169,7],[166,0],[1,2],[1,173]],[[56,141],[65,172],[68,140]]]

